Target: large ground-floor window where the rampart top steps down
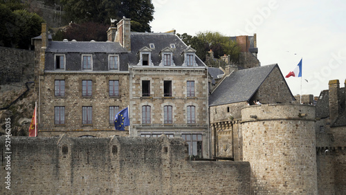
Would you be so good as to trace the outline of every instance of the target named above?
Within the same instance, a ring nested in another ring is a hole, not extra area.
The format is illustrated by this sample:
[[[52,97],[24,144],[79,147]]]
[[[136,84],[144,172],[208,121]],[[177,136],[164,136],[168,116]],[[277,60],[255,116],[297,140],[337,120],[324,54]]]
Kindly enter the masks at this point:
[[[189,155],[202,158],[202,134],[182,134],[181,138],[188,143]]]

